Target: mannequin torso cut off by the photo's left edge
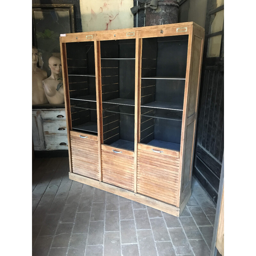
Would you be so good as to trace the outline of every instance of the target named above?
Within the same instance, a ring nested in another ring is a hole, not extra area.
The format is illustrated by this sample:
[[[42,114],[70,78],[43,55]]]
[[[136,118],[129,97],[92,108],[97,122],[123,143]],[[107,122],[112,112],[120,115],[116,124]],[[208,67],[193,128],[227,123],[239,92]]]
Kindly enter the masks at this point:
[[[32,105],[48,103],[42,81],[47,78],[47,72],[36,66],[38,51],[32,46]]]

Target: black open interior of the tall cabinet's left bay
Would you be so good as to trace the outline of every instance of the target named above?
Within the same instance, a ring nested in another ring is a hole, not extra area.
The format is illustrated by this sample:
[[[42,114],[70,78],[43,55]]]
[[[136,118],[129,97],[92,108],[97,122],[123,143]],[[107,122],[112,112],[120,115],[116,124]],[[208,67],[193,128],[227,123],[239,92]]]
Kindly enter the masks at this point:
[[[71,130],[97,135],[94,42],[66,43]]]

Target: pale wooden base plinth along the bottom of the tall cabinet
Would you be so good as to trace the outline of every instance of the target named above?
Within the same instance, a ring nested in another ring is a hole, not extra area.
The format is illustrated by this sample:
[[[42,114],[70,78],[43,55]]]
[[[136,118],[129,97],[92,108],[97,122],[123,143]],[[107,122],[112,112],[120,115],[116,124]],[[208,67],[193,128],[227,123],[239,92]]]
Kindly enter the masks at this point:
[[[190,189],[190,191],[188,192],[188,195],[185,197],[185,199],[182,202],[182,204],[180,205],[180,207],[176,207],[172,204],[167,204],[167,203],[158,201],[158,200],[153,199],[148,196],[136,194],[136,193],[126,190],[124,188],[118,188],[116,186],[113,186],[113,185],[110,185],[110,184],[107,184],[107,183],[104,183],[104,182],[101,182],[98,180],[93,180],[93,179],[84,177],[82,175],[79,175],[79,174],[76,174],[73,172],[69,172],[69,179],[81,182],[83,184],[92,186],[94,188],[99,188],[99,189],[105,190],[107,192],[116,194],[118,196],[123,196],[125,198],[131,199],[131,200],[136,201],[141,204],[148,205],[152,208],[169,213],[169,214],[177,216],[177,217],[179,217],[181,215],[182,211],[184,210],[184,208],[185,208],[186,204],[188,203],[188,200],[191,196],[191,189]]]

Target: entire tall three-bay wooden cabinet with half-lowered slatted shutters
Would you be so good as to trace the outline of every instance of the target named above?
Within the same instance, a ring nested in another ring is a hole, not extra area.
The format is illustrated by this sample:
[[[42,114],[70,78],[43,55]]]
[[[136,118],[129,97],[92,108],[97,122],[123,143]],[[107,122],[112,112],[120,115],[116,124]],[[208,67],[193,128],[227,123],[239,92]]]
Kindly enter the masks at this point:
[[[60,37],[72,180],[179,216],[191,195],[204,29]]]

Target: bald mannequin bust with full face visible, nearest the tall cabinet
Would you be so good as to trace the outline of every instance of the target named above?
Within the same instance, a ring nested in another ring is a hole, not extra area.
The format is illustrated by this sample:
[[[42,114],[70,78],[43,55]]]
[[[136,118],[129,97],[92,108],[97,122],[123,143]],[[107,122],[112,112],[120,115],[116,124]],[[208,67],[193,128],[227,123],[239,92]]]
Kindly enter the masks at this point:
[[[50,104],[63,104],[64,103],[64,90],[63,86],[57,91],[57,85],[60,83],[58,78],[61,78],[61,60],[58,57],[52,56],[49,58],[49,67],[51,69],[51,76],[44,79],[42,84],[47,100]]]

